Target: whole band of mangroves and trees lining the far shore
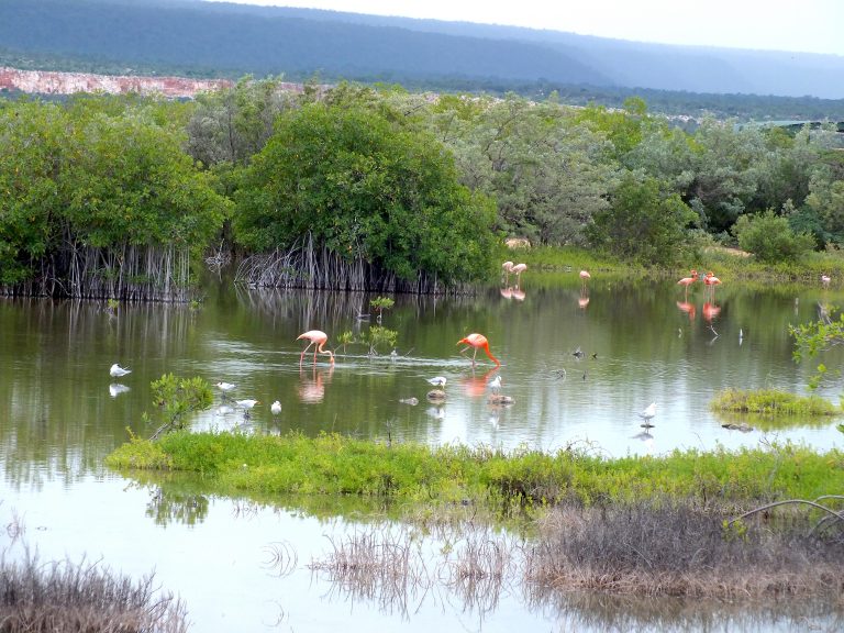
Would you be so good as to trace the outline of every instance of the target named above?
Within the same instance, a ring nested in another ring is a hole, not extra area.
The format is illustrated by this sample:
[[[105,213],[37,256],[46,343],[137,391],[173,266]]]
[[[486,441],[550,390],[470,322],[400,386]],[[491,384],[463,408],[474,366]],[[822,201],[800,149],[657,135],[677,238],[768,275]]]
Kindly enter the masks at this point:
[[[269,286],[440,291],[521,236],[674,265],[844,243],[834,127],[243,78],[191,102],[0,100],[5,292],[159,299],[211,245]],[[177,292],[177,295],[178,295]]]

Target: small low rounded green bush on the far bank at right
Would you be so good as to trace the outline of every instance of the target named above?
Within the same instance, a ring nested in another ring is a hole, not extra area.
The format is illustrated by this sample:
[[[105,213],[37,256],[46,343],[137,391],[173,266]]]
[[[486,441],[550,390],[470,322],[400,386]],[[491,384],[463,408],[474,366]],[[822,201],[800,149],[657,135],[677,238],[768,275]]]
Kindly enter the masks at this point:
[[[793,262],[814,246],[814,238],[809,233],[795,233],[788,219],[771,210],[742,215],[733,233],[738,246],[762,262]]]

